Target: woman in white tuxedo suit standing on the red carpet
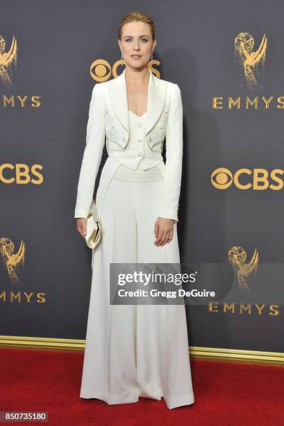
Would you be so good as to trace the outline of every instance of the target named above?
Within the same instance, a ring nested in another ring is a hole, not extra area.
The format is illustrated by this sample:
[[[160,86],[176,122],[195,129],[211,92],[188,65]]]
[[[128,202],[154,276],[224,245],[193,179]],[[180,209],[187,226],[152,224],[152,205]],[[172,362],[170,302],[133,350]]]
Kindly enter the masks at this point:
[[[150,17],[128,13],[118,43],[126,67],[92,91],[74,216],[85,237],[106,142],[108,159],[96,197],[103,237],[92,251],[80,397],[108,404],[164,397],[173,409],[194,402],[185,306],[110,304],[110,263],[180,262],[181,91],[148,68],[156,46]]]

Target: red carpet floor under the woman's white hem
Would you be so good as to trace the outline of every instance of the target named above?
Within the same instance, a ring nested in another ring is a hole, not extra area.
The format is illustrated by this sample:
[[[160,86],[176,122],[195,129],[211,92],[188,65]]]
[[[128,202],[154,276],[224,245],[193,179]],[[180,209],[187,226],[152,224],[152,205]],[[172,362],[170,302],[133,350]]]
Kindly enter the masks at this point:
[[[192,361],[195,402],[169,410],[164,400],[108,406],[81,399],[83,352],[0,355],[0,411],[48,411],[49,425],[284,425],[284,368]]]

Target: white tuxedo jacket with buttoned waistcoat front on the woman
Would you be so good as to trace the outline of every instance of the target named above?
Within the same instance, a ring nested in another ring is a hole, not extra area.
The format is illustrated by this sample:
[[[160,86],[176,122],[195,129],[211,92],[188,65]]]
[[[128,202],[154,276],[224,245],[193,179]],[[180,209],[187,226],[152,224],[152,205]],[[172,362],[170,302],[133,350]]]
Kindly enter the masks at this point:
[[[87,218],[94,186],[106,143],[108,156],[135,170],[140,163],[144,170],[158,166],[164,176],[158,216],[178,221],[183,160],[183,105],[177,84],[158,79],[149,70],[147,114],[144,138],[129,141],[128,102],[125,69],[119,77],[97,83],[92,90],[87,121],[86,146],[78,180],[74,217]],[[162,146],[166,139],[166,163]],[[144,141],[145,142],[145,141]],[[99,191],[99,189],[98,189]]]

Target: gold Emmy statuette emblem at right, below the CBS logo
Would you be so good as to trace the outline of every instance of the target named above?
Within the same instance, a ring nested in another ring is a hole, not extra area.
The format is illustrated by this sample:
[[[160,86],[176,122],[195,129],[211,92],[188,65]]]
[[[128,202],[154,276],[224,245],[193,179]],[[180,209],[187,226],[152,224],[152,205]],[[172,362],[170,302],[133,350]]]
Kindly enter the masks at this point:
[[[247,252],[244,248],[233,246],[228,251],[228,260],[231,267],[233,267],[235,275],[237,276],[240,290],[247,290],[247,292],[249,292],[249,281],[251,275],[256,275],[256,271],[258,270],[258,251],[255,250],[251,260],[246,263]]]

